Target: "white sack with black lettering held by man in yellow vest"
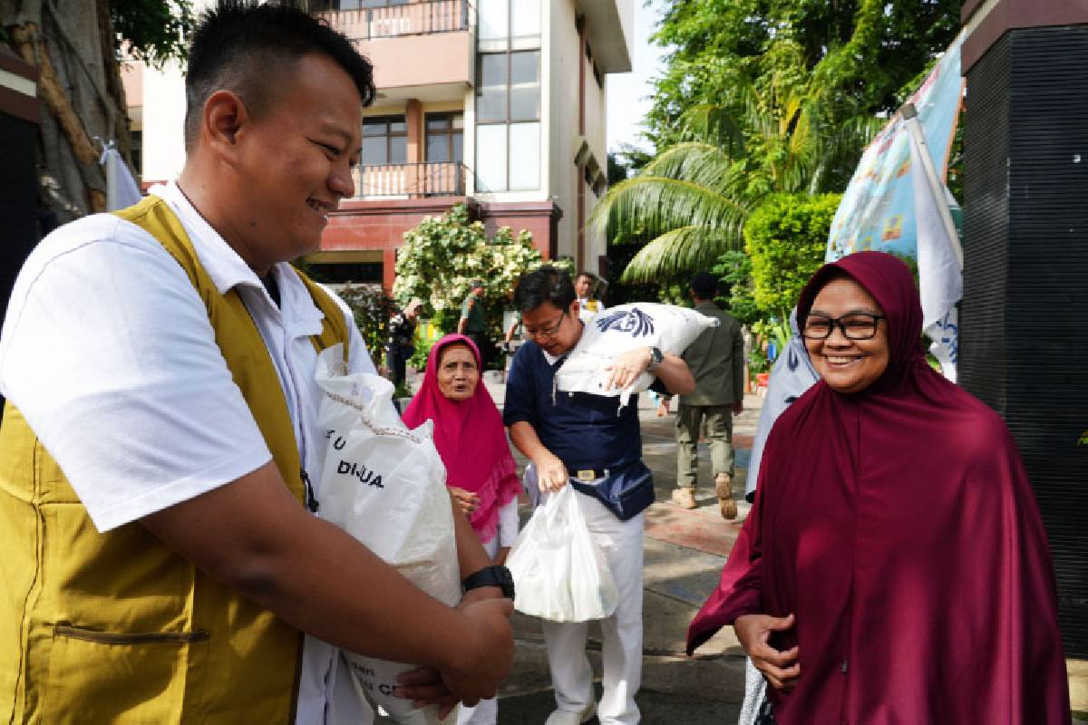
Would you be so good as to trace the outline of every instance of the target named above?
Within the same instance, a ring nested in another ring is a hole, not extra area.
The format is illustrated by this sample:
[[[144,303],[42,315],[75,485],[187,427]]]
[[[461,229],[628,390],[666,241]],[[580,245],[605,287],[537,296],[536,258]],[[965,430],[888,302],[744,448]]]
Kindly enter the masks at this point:
[[[341,374],[342,346],[324,350],[316,379],[326,435],[320,514],[359,539],[412,584],[447,605],[461,597],[446,468],[430,421],[409,430],[393,408],[393,385],[367,373]],[[364,623],[361,623],[364,626]],[[437,707],[393,696],[396,677],[417,665],[344,652],[360,696],[405,725],[440,723]],[[441,721],[457,722],[457,709]]]

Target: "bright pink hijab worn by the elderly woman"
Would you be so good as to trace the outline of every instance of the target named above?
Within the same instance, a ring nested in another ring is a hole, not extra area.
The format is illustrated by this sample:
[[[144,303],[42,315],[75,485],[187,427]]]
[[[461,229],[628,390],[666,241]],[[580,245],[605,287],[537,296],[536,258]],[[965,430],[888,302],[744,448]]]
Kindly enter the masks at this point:
[[[480,351],[472,340],[463,335],[446,335],[431,348],[423,386],[401,417],[411,428],[434,421],[434,447],[446,465],[446,485],[480,497],[480,507],[469,516],[469,523],[486,542],[498,530],[498,510],[517,497],[521,485],[503,417],[483,379],[468,400],[455,402],[438,389],[438,361],[442,351],[452,345],[469,348],[480,367]]]

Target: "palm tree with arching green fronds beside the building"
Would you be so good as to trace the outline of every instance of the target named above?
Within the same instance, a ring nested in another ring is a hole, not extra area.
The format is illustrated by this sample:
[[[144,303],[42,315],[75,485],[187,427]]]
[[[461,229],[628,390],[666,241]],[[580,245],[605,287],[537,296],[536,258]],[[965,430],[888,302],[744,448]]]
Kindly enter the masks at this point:
[[[744,220],[768,195],[827,190],[849,168],[879,120],[832,123],[818,92],[738,86],[720,104],[680,118],[677,143],[613,186],[590,224],[608,239],[648,238],[623,272],[628,283],[675,278],[743,248]],[[852,159],[850,159],[852,157]],[[845,158],[845,159],[844,159]]]

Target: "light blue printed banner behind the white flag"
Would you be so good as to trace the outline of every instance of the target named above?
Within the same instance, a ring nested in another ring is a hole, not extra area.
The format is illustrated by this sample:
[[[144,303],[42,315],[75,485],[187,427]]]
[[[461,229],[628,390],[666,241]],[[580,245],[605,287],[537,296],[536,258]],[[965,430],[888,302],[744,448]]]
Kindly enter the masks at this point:
[[[960,115],[964,80],[960,75],[963,35],[911,97],[918,112],[934,167],[943,182]],[[897,113],[865,150],[831,222],[828,262],[868,249],[917,259],[915,173],[910,134]],[[917,170],[922,174],[922,170]]]

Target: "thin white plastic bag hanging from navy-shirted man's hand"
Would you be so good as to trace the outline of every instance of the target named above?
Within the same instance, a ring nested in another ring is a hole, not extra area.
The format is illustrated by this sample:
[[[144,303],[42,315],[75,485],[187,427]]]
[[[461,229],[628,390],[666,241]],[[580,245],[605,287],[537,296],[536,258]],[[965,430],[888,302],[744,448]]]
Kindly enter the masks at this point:
[[[519,612],[553,622],[589,622],[616,611],[616,582],[604,551],[590,538],[579,496],[570,486],[548,493],[518,535],[506,565]]]

